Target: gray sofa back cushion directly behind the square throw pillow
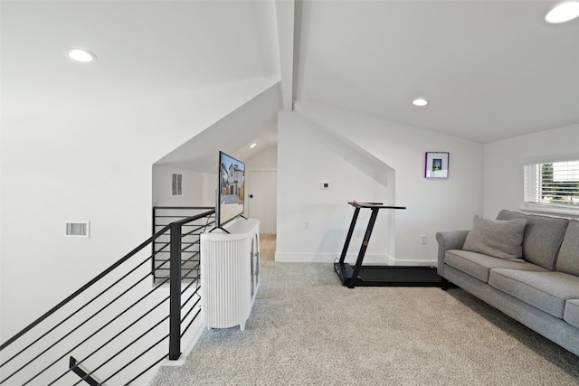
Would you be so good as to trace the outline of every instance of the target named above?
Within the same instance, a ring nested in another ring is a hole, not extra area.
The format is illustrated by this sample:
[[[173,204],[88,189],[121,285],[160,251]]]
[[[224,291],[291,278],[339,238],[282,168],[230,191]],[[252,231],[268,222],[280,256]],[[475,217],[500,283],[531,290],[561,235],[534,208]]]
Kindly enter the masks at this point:
[[[523,259],[553,270],[557,250],[565,236],[568,220],[556,217],[528,215],[517,212],[501,211],[497,220],[513,220],[527,217],[523,238]]]

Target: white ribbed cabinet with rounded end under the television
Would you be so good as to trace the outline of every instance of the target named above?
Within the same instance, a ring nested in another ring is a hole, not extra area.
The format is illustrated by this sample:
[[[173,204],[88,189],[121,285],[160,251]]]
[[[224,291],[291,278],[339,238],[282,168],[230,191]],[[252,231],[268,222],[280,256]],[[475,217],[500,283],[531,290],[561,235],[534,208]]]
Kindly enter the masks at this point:
[[[239,219],[225,229],[201,235],[201,313],[209,329],[244,330],[260,286],[260,221]]]

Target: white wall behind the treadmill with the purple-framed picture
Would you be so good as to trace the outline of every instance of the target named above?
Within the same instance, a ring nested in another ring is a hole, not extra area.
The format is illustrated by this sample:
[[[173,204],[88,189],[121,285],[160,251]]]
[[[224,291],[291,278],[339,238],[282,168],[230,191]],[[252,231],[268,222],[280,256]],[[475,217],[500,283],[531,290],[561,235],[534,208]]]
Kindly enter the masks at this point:
[[[351,200],[407,207],[390,215],[394,216],[393,240],[386,240],[391,237],[388,224],[382,229],[377,224],[367,252],[370,259],[385,257],[383,262],[394,264],[433,264],[436,231],[469,229],[472,216],[482,212],[482,145],[478,143],[312,103],[296,104],[296,111],[280,113],[279,119],[276,259],[331,261],[339,257],[352,216],[346,202]],[[390,166],[395,172],[395,202],[389,202],[391,193],[376,182],[373,170],[346,161],[349,155],[332,154],[313,135],[316,127],[346,137]],[[448,179],[424,178],[427,151],[450,152]],[[318,184],[325,178],[334,188],[321,192]],[[387,212],[381,212],[378,221],[386,216]],[[310,230],[303,229],[306,220]],[[359,227],[365,229],[364,223]],[[422,234],[427,236],[426,245],[419,242]],[[352,248],[357,253],[359,243],[352,240]]]

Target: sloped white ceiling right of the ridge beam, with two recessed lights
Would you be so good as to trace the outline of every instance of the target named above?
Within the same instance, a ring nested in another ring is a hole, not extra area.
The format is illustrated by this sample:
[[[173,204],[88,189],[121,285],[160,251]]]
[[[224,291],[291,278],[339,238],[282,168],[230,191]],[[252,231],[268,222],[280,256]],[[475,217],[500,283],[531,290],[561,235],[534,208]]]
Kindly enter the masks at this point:
[[[294,99],[481,143],[579,123],[579,19],[547,24],[556,3],[298,2]]]

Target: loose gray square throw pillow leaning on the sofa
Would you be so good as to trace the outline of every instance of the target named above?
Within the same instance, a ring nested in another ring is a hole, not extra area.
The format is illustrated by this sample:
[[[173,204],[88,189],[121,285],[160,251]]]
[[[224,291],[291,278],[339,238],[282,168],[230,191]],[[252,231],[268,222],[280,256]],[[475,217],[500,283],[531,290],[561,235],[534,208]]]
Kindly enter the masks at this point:
[[[462,249],[500,259],[521,259],[526,224],[527,219],[501,221],[475,215]]]

